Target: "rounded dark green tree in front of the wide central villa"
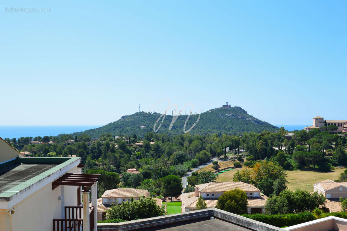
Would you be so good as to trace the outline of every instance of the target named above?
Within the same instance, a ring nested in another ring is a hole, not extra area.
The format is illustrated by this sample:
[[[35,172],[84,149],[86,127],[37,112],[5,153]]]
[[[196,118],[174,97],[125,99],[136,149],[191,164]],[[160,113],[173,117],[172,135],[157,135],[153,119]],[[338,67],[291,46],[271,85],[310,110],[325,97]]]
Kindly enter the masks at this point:
[[[246,192],[241,189],[232,189],[224,192],[217,201],[216,208],[229,213],[244,214],[247,212]]]

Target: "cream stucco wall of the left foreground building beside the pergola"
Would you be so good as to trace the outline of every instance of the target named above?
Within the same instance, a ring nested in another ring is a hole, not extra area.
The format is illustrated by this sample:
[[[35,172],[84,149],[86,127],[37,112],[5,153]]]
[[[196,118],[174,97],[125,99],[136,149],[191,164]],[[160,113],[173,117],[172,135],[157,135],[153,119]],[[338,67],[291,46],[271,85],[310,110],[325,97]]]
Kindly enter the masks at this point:
[[[76,166],[68,173],[81,173],[81,168]],[[56,179],[52,179],[51,183],[16,204],[13,207],[16,212],[12,216],[2,211],[0,230],[52,230],[53,218],[64,218],[64,206],[77,205],[77,186],[64,185],[52,190],[54,180]],[[58,200],[59,196],[62,200]],[[2,230],[2,227],[5,228]]]

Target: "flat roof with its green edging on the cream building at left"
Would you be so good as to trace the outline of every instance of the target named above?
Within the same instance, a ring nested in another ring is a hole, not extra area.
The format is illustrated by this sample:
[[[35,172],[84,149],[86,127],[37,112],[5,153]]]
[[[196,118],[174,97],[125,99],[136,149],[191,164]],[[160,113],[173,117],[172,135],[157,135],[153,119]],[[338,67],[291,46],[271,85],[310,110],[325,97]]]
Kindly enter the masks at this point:
[[[81,157],[17,158],[11,164],[0,165],[0,200],[44,179]],[[8,198],[7,200],[11,200]]]

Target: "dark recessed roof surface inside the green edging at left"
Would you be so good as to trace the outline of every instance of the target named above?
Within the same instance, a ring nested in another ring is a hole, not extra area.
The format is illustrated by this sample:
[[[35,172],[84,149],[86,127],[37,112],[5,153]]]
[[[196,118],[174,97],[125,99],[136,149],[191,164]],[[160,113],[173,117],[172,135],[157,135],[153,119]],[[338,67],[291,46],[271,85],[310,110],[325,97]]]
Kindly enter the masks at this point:
[[[0,168],[0,193],[37,176],[56,164],[13,164]]]

